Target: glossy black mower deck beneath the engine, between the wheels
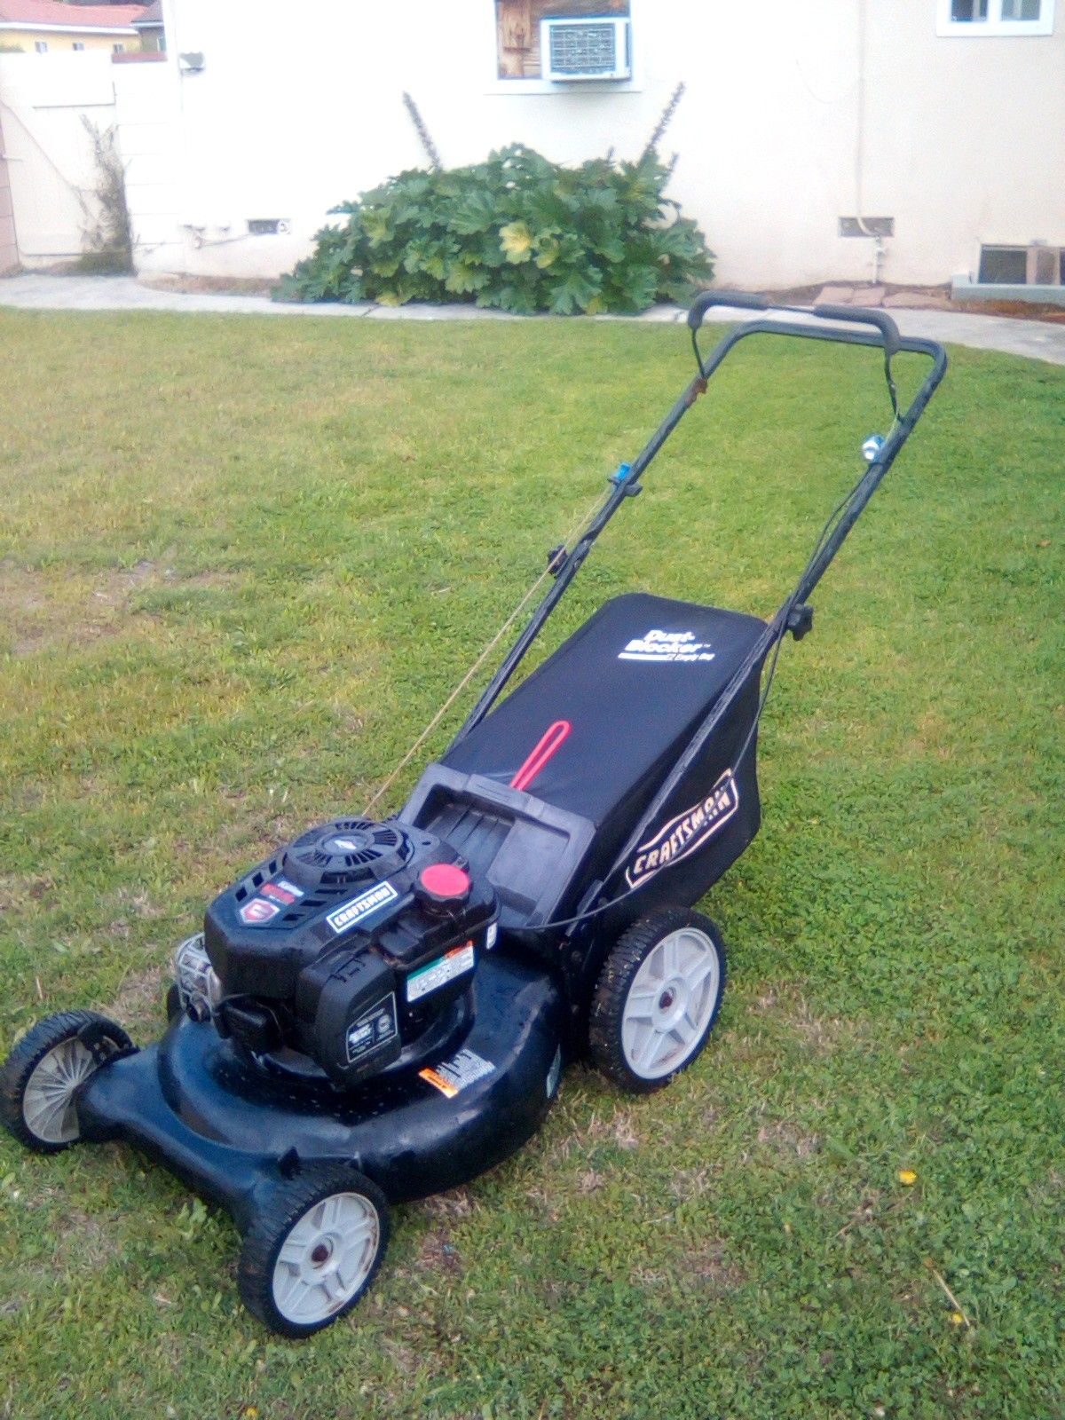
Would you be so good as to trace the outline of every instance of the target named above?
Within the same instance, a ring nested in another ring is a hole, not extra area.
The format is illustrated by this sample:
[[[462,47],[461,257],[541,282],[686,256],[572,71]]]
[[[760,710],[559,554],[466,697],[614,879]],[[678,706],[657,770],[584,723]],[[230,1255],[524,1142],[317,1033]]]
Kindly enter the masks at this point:
[[[275,1078],[210,1022],[179,1015],[155,1045],[85,1082],[82,1139],[143,1149],[241,1230],[304,1163],[354,1163],[390,1201],[420,1198],[469,1183],[535,1133],[558,1083],[561,1014],[545,973],[490,956],[469,1035],[447,1061],[348,1093]]]

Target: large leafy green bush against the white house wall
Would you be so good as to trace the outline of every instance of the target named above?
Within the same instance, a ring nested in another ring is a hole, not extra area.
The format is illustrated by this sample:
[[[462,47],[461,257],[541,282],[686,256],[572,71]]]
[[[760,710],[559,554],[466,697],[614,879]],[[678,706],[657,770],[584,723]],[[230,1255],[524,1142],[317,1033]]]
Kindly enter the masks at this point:
[[[713,275],[713,253],[662,189],[650,152],[579,168],[514,145],[487,162],[413,169],[334,209],[281,300],[469,301],[523,315],[642,311],[683,301]]]

